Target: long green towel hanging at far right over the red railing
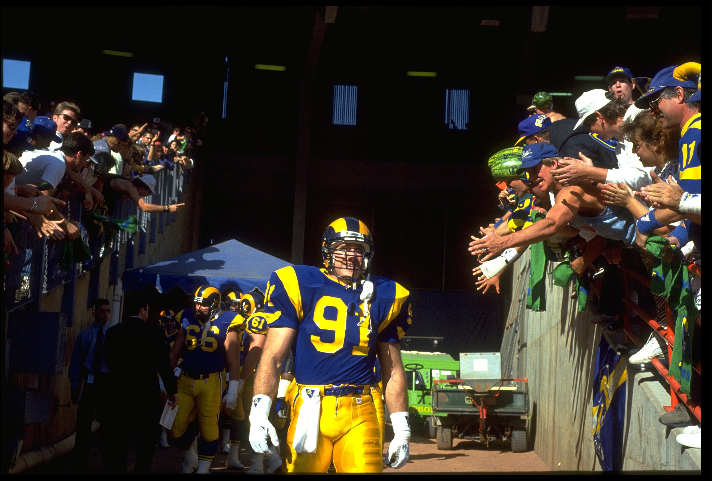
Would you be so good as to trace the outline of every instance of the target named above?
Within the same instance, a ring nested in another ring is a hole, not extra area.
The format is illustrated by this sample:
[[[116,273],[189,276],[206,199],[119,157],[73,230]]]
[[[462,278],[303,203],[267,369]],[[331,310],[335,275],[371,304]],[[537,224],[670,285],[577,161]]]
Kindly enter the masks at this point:
[[[692,377],[692,338],[695,332],[695,320],[700,315],[690,289],[690,277],[679,249],[670,246],[668,239],[653,236],[645,247],[656,257],[651,275],[653,294],[663,296],[675,316],[675,345],[672,349],[669,374],[680,383],[680,391],[690,394]],[[674,249],[671,262],[663,262],[666,249]]]

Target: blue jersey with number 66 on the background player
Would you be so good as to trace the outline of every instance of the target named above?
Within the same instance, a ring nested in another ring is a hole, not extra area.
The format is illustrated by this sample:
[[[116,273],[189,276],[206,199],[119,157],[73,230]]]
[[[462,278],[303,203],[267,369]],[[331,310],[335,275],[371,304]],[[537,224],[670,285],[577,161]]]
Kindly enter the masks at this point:
[[[187,373],[218,373],[225,368],[225,336],[236,316],[226,311],[208,324],[201,324],[194,309],[180,313],[179,321],[185,333],[185,351],[181,368]],[[206,331],[206,327],[209,329]]]

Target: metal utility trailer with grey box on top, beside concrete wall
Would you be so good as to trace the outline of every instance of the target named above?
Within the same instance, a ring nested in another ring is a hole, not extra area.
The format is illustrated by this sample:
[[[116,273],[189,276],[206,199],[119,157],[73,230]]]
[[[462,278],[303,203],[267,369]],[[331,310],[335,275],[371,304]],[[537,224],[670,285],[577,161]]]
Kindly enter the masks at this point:
[[[454,437],[486,446],[510,439],[513,452],[527,450],[528,380],[503,379],[500,353],[461,353],[460,378],[434,380],[431,400],[439,450]]]

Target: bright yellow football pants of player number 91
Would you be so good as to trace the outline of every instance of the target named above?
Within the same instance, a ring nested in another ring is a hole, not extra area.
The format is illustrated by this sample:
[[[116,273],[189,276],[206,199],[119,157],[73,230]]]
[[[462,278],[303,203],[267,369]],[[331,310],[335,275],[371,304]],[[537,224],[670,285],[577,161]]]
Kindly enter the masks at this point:
[[[327,472],[334,462],[336,472],[382,472],[381,430],[369,393],[325,396],[321,387],[321,416],[316,452],[296,452],[293,445],[303,385],[293,384],[288,393],[292,417],[287,431],[287,471]]]

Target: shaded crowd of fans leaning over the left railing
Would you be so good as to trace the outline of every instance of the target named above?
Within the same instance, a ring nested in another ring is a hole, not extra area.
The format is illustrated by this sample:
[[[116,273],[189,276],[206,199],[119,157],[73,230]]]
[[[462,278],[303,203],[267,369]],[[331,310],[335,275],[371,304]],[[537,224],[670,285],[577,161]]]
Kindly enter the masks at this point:
[[[208,119],[194,115],[184,128],[160,118],[132,128],[117,123],[108,130],[82,117],[72,102],[42,104],[33,92],[3,98],[4,252],[6,265],[19,254],[16,223],[26,219],[38,237],[73,241],[97,229],[67,219],[61,207],[83,195],[83,207],[112,217],[118,200],[130,199],[143,212],[177,212],[183,204],[154,205],[160,170],[192,170]],[[107,126],[108,127],[108,126]]]

